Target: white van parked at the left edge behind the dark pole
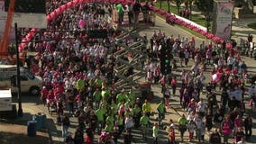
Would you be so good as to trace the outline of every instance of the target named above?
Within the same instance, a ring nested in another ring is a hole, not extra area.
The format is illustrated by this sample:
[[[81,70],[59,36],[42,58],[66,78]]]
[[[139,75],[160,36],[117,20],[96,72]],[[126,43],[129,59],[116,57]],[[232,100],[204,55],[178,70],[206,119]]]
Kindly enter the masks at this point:
[[[33,76],[25,67],[20,67],[20,71],[21,92],[39,95],[42,86],[41,76]],[[16,93],[18,90],[16,76],[16,65],[0,65],[0,89],[11,88],[12,93]]]

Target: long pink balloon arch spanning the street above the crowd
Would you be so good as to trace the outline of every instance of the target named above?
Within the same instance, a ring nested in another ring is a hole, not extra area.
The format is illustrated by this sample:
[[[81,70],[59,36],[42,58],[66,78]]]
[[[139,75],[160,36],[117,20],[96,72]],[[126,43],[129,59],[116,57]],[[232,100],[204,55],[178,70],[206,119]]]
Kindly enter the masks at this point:
[[[85,4],[85,3],[123,3],[123,4],[127,4],[127,3],[134,3],[133,0],[73,0],[70,1],[66,4],[62,4],[61,6],[59,6],[57,9],[55,9],[53,12],[51,12],[50,14],[47,15],[47,22],[50,22],[51,20],[54,20],[55,18],[57,18],[59,16],[59,14],[63,14],[63,12],[67,9],[69,9],[70,7],[73,7],[77,4]],[[178,23],[182,26],[185,26],[187,28],[189,28],[192,31],[196,31],[197,33],[206,36],[207,39],[213,40],[215,43],[223,43],[224,40],[220,37],[217,37],[215,34],[204,31],[202,29],[200,29],[199,27],[191,24],[191,23],[187,23],[185,21],[183,21],[182,19],[177,18],[174,14],[169,14],[159,8],[154,7],[153,5],[151,5],[151,10],[154,13],[160,14],[168,19],[171,19],[172,21],[174,21],[175,23]],[[36,34],[36,31],[38,31],[39,29],[35,29],[33,28],[24,38],[23,41],[30,41],[32,40],[32,37]],[[23,50],[25,47],[27,46],[27,43],[22,43],[19,45],[19,50]],[[232,49],[232,45],[230,43],[227,43],[226,48],[228,49]]]

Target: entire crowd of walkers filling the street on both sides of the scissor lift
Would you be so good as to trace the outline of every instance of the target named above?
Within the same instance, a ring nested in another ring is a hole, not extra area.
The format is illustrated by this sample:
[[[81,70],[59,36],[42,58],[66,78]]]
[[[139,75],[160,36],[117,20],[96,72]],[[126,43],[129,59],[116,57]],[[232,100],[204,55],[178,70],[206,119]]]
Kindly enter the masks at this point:
[[[48,13],[63,3],[48,1]],[[118,4],[115,6],[123,10]],[[50,112],[56,110],[66,143],[91,144],[99,135],[101,143],[114,143],[123,138],[123,143],[129,144],[132,130],[139,127],[143,139],[149,138],[151,129],[154,143],[158,143],[159,130],[164,127],[162,121],[172,103],[169,100],[175,95],[179,96],[185,112],[177,120],[177,127],[176,120],[168,120],[169,143],[177,141],[177,129],[181,141],[187,131],[188,141],[197,138],[204,142],[206,130],[212,131],[209,142],[213,144],[221,143],[222,135],[224,143],[228,143],[230,135],[237,144],[250,139],[252,120],[245,113],[247,99],[244,95],[248,92],[254,108],[256,89],[254,84],[249,90],[245,87],[247,66],[235,48],[225,49],[224,45],[206,44],[205,41],[197,48],[194,38],[175,38],[163,31],[154,31],[144,69],[146,81],[162,86],[162,101],[157,106],[158,121],[151,121],[151,103],[138,97],[133,86],[116,92],[114,67],[117,63],[113,54],[119,48],[113,43],[120,31],[114,31],[109,21],[108,14],[112,14],[113,7],[113,4],[88,3],[69,8],[48,23],[46,31],[36,34],[35,39],[39,42],[28,46],[28,49],[35,48],[38,54],[27,59],[27,67],[43,78],[41,101]],[[85,23],[79,24],[81,20]],[[107,35],[90,37],[88,32],[94,30],[107,31]],[[129,41],[124,43],[129,45]],[[165,66],[166,59],[161,58],[168,58],[168,66]],[[189,63],[193,63],[193,67],[187,70]],[[180,76],[174,76],[180,68]],[[212,70],[212,76],[217,75],[208,84],[206,69]],[[219,91],[221,102],[216,98]],[[206,98],[202,94],[206,94]],[[70,116],[78,118],[73,136],[69,134]]]

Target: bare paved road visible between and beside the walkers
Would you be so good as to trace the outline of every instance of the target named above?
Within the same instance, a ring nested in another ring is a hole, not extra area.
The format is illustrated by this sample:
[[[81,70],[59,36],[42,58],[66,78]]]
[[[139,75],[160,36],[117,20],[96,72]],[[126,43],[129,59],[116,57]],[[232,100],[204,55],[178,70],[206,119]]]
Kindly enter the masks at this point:
[[[168,24],[166,24],[162,19],[157,18],[156,20],[156,26],[152,27],[151,29],[145,29],[139,32],[140,35],[144,35],[146,34],[148,36],[148,38],[151,37],[151,34],[153,31],[164,31],[166,33],[166,35],[173,35],[174,37],[177,37],[178,34],[181,37],[188,37],[189,39],[192,37],[192,35],[190,33],[188,33],[187,31],[183,31],[181,29],[179,29],[177,26],[170,26]],[[196,39],[197,44],[199,44],[203,39]],[[208,41],[208,40],[206,40]],[[250,70],[255,72],[256,71],[256,65],[255,65],[255,60],[252,60],[251,58],[243,58],[246,63],[248,64],[248,66],[251,66]],[[190,68],[192,66],[192,63],[189,63],[189,66],[187,68]],[[179,68],[180,70],[180,68]],[[178,75],[179,72],[175,72],[175,75]],[[206,71],[206,76],[209,76],[209,71]],[[208,78],[209,80],[209,78]],[[143,81],[143,80],[142,80]],[[155,104],[159,102],[161,94],[160,94],[160,85],[152,85],[152,91],[154,92],[154,99],[151,101],[152,103],[152,107],[155,109]],[[39,102],[39,98],[36,97],[30,97],[30,96],[23,96],[23,111],[24,112],[46,112],[46,108],[41,104],[41,103],[37,103]],[[167,115],[166,115],[166,119],[164,120],[164,122],[167,122],[170,118],[173,119],[175,122],[178,120],[178,117],[180,114],[183,113],[183,110],[180,108],[179,106],[179,98],[178,96],[176,97],[171,97],[171,108],[168,109]],[[156,112],[156,110],[155,110]],[[248,112],[250,112],[248,110]],[[255,116],[253,116],[253,122],[255,122]],[[57,126],[56,124],[54,124],[54,122],[56,122],[56,117],[54,115],[50,115],[49,113],[47,113],[47,117],[48,119],[48,127],[50,128],[50,133],[53,137],[53,139],[57,142],[57,141],[62,141],[63,139],[60,138],[61,135],[61,128],[59,126]],[[151,121],[155,121],[157,115],[155,114],[154,116],[151,117]],[[71,118],[71,128],[69,129],[69,131],[71,131],[72,133],[74,133],[74,130],[76,128],[76,125],[78,125],[77,123],[77,118]],[[254,124],[255,125],[255,124]],[[255,127],[254,127],[255,128]],[[133,135],[133,143],[140,143],[140,144],[148,144],[151,143],[151,134],[149,135],[149,139],[144,140],[141,138],[141,130],[134,130],[134,135]],[[256,129],[253,129],[253,133],[256,133]],[[178,130],[176,130],[176,136],[177,139],[179,140],[179,134],[178,134]],[[186,132],[186,138],[187,139],[187,132]],[[208,134],[206,133],[206,139],[208,139]],[[252,140],[255,139],[255,136],[252,137]],[[165,143],[167,140],[166,138],[166,134],[164,132],[164,130],[160,130],[160,144]],[[251,140],[251,141],[252,141]],[[232,140],[231,140],[232,141]],[[254,140],[256,141],[256,140]],[[121,140],[121,143],[122,140]],[[193,143],[197,143],[197,141],[194,141]]]

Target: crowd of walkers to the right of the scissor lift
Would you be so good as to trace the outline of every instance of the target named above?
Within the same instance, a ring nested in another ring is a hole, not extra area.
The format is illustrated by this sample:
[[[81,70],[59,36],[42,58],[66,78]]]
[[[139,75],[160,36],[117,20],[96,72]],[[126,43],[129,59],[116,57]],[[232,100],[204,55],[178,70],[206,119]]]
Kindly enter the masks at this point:
[[[186,131],[189,133],[188,141],[195,138],[199,142],[205,141],[206,130],[212,130],[214,125],[216,129],[210,135],[210,143],[221,143],[221,135],[224,136],[224,143],[228,143],[230,135],[233,136],[235,143],[243,143],[245,139],[250,139],[252,119],[245,111],[245,99],[251,102],[251,107],[254,107],[252,103],[255,102],[255,84],[250,83],[251,86],[246,88],[244,74],[247,73],[247,66],[236,48],[224,49],[223,46],[217,46],[212,42],[206,44],[205,41],[202,41],[197,48],[194,38],[191,40],[180,36],[174,38],[167,36],[163,31],[154,31],[149,51],[151,60],[144,67],[146,80],[151,83],[153,79],[153,83],[162,85],[164,105],[167,108],[169,98],[179,95],[180,106],[187,114],[187,118],[183,114],[178,119],[181,141]],[[159,66],[159,61],[156,59],[163,60],[163,63],[160,62],[163,65]],[[165,64],[166,60],[169,61],[168,67]],[[182,69],[188,66],[188,61],[192,61],[193,67],[189,70]],[[178,72],[177,67],[182,69],[179,77],[174,75]],[[210,68],[212,78],[206,84],[204,74],[209,67],[214,68]],[[216,74],[217,78],[214,77]],[[181,85],[177,93],[178,80]],[[218,93],[221,95],[221,102],[217,102]],[[202,94],[206,94],[206,99]],[[245,94],[249,94],[249,99]],[[159,119],[162,120],[164,111],[160,109],[158,111]],[[244,119],[243,115],[245,115]],[[173,127],[169,126],[168,129]],[[175,139],[171,138],[175,137],[172,130],[168,131],[169,139]]]

